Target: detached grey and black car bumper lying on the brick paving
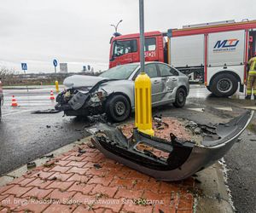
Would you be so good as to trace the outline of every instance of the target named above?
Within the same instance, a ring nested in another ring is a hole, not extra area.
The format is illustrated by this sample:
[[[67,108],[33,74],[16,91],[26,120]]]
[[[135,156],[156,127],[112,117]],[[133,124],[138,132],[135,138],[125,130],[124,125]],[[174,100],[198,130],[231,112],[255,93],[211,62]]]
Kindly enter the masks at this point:
[[[118,128],[107,124],[98,124],[90,130],[95,132],[93,144],[108,158],[158,180],[179,181],[223,158],[252,118],[253,111],[246,112],[227,124],[218,124],[215,132],[218,137],[214,140],[206,136],[201,145],[191,141],[178,141],[172,134],[171,141],[164,141],[137,130],[134,130],[132,140],[128,140]],[[152,153],[138,152],[136,147],[140,142],[169,153],[169,157],[162,159]]]

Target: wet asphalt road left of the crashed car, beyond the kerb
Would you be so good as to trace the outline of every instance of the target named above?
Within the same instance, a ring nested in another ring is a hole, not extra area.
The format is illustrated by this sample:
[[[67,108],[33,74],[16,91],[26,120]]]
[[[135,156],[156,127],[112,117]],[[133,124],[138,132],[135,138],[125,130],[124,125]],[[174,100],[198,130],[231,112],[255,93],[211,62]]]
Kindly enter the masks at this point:
[[[5,90],[3,120],[0,124],[0,176],[87,135],[84,121],[62,118],[63,113],[32,114],[54,108],[50,89]],[[20,107],[12,108],[11,95]]]

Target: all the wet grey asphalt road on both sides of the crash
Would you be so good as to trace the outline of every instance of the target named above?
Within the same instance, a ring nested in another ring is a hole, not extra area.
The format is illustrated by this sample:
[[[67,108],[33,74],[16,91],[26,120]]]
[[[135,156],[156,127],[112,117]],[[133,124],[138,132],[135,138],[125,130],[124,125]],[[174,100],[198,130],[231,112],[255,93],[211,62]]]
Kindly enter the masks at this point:
[[[3,122],[0,124],[0,176],[22,164],[76,141],[87,135],[86,120],[62,118],[57,114],[31,114],[38,109],[53,108],[49,90],[6,89],[3,106]],[[9,107],[11,95],[15,95],[20,107]],[[217,107],[225,107],[219,109]],[[245,112],[242,107],[256,107],[254,101],[245,101],[241,93],[231,98],[216,98],[207,89],[191,85],[187,104],[183,109],[172,106],[158,107],[153,114],[189,118],[201,124],[217,124],[229,121]],[[201,108],[203,108],[202,112]],[[131,118],[132,119],[132,118]],[[88,124],[88,123],[87,123]],[[48,128],[47,128],[48,125]],[[256,210],[256,115],[249,130],[241,135],[241,141],[225,156],[228,185],[237,212]]]

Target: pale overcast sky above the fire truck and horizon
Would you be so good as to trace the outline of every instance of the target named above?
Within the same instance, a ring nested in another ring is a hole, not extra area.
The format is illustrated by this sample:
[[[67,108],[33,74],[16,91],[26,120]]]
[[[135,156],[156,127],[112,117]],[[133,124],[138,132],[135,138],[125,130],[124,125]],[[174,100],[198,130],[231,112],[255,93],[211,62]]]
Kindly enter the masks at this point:
[[[145,31],[219,20],[255,20],[253,0],[144,0]],[[119,20],[122,34],[139,31],[138,0],[0,0],[0,66],[54,72],[52,60],[68,71],[90,64],[108,68],[109,39]]]

